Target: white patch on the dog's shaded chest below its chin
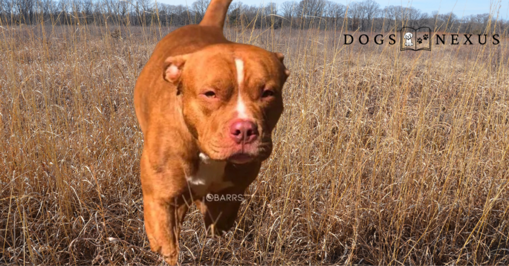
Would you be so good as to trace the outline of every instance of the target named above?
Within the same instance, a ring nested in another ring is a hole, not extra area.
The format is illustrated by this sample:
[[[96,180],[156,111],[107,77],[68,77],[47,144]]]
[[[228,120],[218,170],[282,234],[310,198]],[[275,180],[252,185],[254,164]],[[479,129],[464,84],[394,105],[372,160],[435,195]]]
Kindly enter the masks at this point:
[[[211,160],[207,155],[200,153],[200,166],[192,176],[186,176],[191,190],[198,196],[209,192],[217,192],[233,186],[231,182],[224,182],[224,167],[226,162]]]

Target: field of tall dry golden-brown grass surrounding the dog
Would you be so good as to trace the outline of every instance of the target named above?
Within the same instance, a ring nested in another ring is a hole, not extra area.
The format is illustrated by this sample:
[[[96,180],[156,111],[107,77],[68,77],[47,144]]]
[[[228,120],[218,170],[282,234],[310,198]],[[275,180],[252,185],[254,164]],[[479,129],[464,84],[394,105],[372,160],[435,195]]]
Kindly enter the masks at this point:
[[[164,264],[133,87],[171,29],[114,29],[0,32],[0,264]],[[285,112],[235,228],[207,239],[190,210],[182,265],[509,263],[507,40],[402,52],[335,31],[226,34],[286,54]]]

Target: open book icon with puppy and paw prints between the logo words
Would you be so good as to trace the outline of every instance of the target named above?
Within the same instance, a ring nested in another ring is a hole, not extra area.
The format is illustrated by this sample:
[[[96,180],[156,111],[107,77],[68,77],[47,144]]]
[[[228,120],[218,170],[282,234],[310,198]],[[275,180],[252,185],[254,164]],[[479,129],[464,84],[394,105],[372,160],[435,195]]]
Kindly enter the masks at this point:
[[[400,48],[404,50],[431,51],[431,28],[429,27],[402,27]]]

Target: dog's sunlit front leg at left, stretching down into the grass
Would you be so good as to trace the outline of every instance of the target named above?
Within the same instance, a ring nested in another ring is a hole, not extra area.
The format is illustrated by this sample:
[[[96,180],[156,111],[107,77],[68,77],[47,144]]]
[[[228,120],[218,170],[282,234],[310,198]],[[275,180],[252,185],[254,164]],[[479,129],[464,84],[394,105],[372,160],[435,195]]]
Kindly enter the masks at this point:
[[[189,208],[188,193],[178,173],[168,170],[156,173],[142,156],[145,229],[150,248],[169,265],[178,262],[180,228]]]

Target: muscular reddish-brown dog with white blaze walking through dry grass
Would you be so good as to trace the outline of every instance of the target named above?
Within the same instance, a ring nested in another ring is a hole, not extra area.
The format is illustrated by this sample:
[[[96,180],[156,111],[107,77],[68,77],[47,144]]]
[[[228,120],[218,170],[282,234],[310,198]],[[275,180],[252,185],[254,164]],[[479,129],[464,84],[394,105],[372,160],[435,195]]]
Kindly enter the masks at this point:
[[[166,35],[136,81],[145,228],[151,249],[171,265],[192,201],[210,234],[233,225],[237,195],[269,157],[283,110],[283,56],[224,38],[231,1],[212,0],[199,25]]]

